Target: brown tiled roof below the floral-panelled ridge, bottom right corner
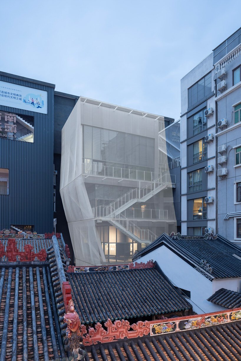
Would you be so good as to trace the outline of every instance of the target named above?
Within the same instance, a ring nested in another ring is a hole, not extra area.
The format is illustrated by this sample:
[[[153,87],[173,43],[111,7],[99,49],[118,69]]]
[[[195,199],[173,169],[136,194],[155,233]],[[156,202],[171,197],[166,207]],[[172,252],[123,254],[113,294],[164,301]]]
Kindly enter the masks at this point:
[[[241,322],[91,346],[86,361],[238,361]]]

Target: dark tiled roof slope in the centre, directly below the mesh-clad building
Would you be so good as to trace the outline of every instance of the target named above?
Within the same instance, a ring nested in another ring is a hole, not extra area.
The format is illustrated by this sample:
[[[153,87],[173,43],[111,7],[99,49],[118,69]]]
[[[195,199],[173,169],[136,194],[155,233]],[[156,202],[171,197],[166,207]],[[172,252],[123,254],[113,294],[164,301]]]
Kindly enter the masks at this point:
[[[145,317],[191,308],[157,265],[147,269],[68,275],[82,323]]]

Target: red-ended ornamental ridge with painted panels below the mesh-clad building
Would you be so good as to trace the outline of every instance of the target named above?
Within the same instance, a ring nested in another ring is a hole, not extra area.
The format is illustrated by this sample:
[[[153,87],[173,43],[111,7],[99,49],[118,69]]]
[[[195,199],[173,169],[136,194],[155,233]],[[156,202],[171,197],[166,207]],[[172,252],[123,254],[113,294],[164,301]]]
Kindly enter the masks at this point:
[[[67,253],[68,255],[68,253]],[[145,269],[145,268],[153,268],[155,264],[152,260],[145,262],[135,262],[129,263],[128,265],[113,265],[113,266],[68,266],[68,273],[86,273],[86,272],[105,272],[105,271],[124,271],[124,270],[134,270],[134,269]]]

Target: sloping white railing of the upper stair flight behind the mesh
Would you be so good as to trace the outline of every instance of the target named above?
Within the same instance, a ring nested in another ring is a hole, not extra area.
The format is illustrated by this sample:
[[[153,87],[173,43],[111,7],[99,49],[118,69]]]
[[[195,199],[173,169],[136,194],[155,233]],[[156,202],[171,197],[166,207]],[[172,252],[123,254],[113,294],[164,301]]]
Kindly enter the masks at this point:
[[[155,181],[148,183],[146,187],[134,188],[131,191],[126,192],[123,196],[119,197],[109,205],[104,206],[103,208],[106,216],[103,217],[112,217],[114,216],[114,213],[116,212],[117,209],[121,208],[130,201],[136,199],[145,199],[145,197],[151,195],[151,193],[153,193],[153,195],[156,194],[156,191],[158,191],[158,189],[160,187],[163,187],[165,184],[166,185],[169,184],[171,186],[173,183],[176,183],[176,175],[167,174],[167,173],[162,174],[159,178],[155,179]],[[93,213],[94,212],[95,211],[93,211]]]

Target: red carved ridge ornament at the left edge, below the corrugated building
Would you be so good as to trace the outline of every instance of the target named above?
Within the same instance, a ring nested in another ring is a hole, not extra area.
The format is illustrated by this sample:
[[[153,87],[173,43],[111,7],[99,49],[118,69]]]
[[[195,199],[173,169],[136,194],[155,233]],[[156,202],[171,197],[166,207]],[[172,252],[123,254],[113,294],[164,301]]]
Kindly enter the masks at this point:
[[[6,251],[4,248],[5,246],[0,244],[0,257],[8,257],[9,262],[16,262],[17,256],[18,260],[22,262],[34,261],[35,257],[37,257],[39,261],[45,261],[47,258],[47,252],[45,249],[41,249],[38,253],[34,253],[33,246],[31,244],[25,244],[23,251],[20,252],[17,248],[17,241],[15,238],[9,238]]]

